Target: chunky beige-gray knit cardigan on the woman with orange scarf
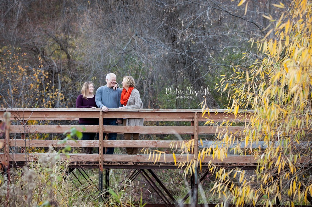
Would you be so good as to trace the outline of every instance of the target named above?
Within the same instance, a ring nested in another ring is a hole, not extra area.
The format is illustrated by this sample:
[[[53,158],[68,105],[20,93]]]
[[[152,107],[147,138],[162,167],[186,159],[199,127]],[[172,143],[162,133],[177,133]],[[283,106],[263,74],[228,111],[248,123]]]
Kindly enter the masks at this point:
[[[131,95],[128,99],[127,106],[124,108],[143,108],[143,103],[140,98],[140,93],[138,90],[133,89],[131,91]],[[135,118],[135,119],[129,119],[127,118],[127,126],[143,126],[144,119]]]

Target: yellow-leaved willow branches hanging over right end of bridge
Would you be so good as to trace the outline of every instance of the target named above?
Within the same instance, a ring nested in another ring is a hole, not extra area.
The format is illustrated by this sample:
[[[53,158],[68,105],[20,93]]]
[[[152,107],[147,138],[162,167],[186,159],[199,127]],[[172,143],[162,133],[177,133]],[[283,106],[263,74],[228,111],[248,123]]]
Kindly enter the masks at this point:
[[[245,1],[241,1],[243,5]],[[282,3],[273,5],[284,8]],[[266,149],[240,149],[240,154],[258,158],[257,169],[214,168],[213,193],[237,206],[307,205],[312,194],[311,90],[312,90],[312,2],[293,1],[279,19],[264,16],[274,25],[263,39],[250,40],[259,58],[249,68],[233,67],[234,74],[224,78],[218,90],[228,93],[229,109],[253,109],[255,113],[243,134],[218,136],[224,143],[250,145],[264,141]],[[247,6],[246,6],[247,9]],[[250,54],[245,53],[245,59]],[[223,123],[229,126],[229,123]],[[229,150],[229,144],[225,145]],[[217,149],[220,158],[227,150]],[[300,160],[300,162],[299,162]]]

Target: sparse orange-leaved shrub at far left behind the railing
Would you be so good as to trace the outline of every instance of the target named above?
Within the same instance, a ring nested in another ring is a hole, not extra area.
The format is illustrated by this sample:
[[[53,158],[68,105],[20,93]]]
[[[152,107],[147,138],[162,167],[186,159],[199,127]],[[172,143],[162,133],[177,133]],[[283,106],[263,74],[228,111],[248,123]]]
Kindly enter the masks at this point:
[[[51,108],[62,102],[64,95],[51,84],[40,55],[36,68],[26,64],[26,55],[20,48],[0,49],[1,107]]]

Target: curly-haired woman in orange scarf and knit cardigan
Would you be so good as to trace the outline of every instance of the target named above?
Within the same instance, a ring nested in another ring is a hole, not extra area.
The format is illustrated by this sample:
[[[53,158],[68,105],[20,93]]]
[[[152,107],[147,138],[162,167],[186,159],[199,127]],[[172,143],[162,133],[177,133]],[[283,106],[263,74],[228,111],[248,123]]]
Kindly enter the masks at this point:
[[[120,103],[124,107],[119,108],[143,108],[143,103],[140,98],[140,93],[136,90],[135,82],[132,76],[125,76],[122,81],[123,90],[121,92]],[[143,119],[141,118],[127,118],[124,119],[124,126],[143,126]],[[132,133],[133,140],[139,140],[139,133]],[[131,140],[131,133],[124,133],[125,140]],[[139,154],[139,149],[136,147],[127,147],[128,154]]]

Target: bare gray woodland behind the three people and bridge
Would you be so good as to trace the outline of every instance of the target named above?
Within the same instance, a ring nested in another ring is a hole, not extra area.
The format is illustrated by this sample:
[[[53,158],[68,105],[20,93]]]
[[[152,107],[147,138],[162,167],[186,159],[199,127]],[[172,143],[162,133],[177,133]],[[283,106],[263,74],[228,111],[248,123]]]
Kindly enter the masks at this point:
[[[1,0],[0,106],[75,108],[85,81],[114,72],[134,76],[144,108],[199,108],[203,95],[225,108],[216,83],[259,58],[248,40],[273,27],[277,2]]]

